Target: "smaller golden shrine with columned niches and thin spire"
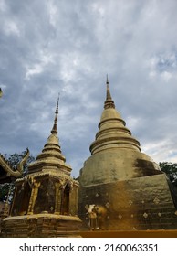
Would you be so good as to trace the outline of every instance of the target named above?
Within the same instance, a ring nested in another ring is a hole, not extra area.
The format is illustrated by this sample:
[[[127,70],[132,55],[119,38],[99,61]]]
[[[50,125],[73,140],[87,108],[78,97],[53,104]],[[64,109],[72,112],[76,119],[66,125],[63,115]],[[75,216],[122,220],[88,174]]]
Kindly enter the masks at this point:
[[[16,179],[10,216],[3,237],[79,237],[78,181],[62,155],[57,137],[58,101],[54,125],[41,154]]]

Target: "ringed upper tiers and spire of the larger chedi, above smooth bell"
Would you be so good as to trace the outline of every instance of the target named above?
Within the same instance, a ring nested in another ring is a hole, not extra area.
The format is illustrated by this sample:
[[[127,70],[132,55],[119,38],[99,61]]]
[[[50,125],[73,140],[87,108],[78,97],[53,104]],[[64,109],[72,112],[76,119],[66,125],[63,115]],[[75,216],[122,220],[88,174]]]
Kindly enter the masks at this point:
[[[115,109],[107,80],[104,111],[100,118],[96,140],[90,145],[91,154],[111,148],[130,148],[140,151],[140,143],[131,136],[130,130],[125,125],[125,121],[122,120],[120,113]]]

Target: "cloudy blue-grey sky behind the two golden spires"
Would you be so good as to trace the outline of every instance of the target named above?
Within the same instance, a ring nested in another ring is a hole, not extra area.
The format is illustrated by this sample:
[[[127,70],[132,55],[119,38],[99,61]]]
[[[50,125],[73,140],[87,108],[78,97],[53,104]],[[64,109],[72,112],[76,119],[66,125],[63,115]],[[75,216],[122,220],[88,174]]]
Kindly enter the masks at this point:
[[[38,155],[53,126],[78,176],[106,94],[141,151],[177,159],[176,0],[0,0],[0,152]]]

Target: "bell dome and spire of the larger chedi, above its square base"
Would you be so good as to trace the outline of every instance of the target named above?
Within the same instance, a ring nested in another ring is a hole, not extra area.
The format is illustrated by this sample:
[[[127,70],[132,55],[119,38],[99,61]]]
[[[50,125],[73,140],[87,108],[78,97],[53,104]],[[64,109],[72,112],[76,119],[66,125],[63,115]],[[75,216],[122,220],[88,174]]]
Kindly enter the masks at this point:
[[[131,135],[120,112],[115,109],[108,79],[99,132],[89,149],[91,156],[80,170],[80,186],[161,173],[159,165],[150,156],[141,153],[139,141]]]

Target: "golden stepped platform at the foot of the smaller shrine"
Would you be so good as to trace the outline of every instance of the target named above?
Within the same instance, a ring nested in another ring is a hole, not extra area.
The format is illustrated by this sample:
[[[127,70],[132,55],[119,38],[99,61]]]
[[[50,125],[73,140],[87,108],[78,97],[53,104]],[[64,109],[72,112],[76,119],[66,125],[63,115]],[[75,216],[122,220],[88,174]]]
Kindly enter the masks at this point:
[[[7,217],[3,220],[2,237],[47,238],[80,237],[81,220],[76,216],[34,214]]]

